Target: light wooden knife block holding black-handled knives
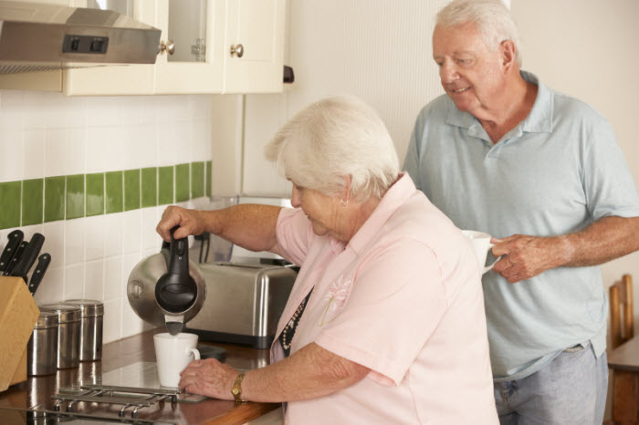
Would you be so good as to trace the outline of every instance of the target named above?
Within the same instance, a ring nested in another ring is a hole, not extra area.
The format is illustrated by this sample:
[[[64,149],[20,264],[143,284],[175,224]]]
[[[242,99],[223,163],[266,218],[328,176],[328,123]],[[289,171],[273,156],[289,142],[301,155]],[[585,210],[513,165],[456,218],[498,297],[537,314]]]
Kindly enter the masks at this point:
[[[26,380],[26,345],[40,310],[16,276],[0,276],[0,391]]]

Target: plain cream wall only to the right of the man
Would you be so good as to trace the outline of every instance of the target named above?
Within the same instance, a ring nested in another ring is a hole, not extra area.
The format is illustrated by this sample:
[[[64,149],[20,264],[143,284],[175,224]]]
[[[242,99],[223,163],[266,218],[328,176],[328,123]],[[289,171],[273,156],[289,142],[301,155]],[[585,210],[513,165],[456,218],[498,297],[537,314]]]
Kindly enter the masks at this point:
[[[639,2],[512,0],[511,7],[523,37],[523,67],[550,88],[599,110],[612,123],[634,181],[639,181]],[[624,273],[634,275],[636,288],[639,253],[602,266],[606,286]],[[635,290],[634,305],[638,302]]]

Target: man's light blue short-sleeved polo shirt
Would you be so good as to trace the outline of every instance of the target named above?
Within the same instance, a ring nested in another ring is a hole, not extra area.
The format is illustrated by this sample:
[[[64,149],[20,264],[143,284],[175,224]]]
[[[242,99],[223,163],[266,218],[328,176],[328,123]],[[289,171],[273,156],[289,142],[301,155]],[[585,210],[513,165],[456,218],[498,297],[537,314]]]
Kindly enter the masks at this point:
[[[461,229],[502,238],[579,232],[602,217],[639,215],[639,195],[613,129],[587,104],[538,85],[529,116],[493,143],[446,95],[417,117],[404,169]],[[605,349],[599,267],[559,267],[509,284],[483,277],[496,381],[525,378],[564,348]]]

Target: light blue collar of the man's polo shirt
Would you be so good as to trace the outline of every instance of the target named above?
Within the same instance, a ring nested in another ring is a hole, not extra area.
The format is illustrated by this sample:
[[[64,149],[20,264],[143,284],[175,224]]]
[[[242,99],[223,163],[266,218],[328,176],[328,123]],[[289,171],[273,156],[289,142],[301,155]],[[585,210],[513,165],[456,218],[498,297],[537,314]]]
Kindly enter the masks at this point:
[[[551,132],[554,101],[550,88],[546,87],[546,85],[539,81],[539,78],[531,72],[521,70],[519,73],[526,81],[537,85],[537,98],[535,98],[535,103],[532,109],[530,109],[528,117],[521,121],[510,133],[516,131],[519,133],[517,135],[521,135],[524,131],[539,133]],[[457,109],[452,100],[448,102],[446,124],[466,129],[471,136],[487,139],[486,130],[483,129],[479,120],[468,112],[462,112]]]

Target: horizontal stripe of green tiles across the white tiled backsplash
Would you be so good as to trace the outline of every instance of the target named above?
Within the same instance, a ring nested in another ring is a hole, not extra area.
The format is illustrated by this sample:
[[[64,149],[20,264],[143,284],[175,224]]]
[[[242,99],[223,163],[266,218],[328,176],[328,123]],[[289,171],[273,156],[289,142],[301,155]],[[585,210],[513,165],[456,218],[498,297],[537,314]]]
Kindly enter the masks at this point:
[[[211,197],[212,161],[0,182],[0,229]]]

